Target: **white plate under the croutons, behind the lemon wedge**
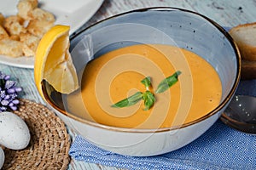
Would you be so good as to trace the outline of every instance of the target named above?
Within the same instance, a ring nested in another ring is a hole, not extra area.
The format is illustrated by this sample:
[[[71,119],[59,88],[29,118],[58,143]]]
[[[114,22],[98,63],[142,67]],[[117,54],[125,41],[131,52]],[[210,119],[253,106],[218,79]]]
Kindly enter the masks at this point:
[[[4,16],[17,14],[19,0],[0,0],[0,13]],[[70,35],[83,26],[96,13],[103,0],[39,0],[40,8],[55,15],[55,25],[70,26]],[[0,63],[22,68],[33,68],[33,57],[11,58],[0,54]]]

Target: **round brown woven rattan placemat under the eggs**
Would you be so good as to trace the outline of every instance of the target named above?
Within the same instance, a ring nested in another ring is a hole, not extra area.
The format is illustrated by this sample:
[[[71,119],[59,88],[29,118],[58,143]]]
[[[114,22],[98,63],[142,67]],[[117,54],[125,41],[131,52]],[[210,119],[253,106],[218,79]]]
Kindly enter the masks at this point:
[[[4,149],[3,169],[67,169],[70,138],[65,124],[44,105],[20,99],[20,116],[29,127],[30,144],[24,150]]]

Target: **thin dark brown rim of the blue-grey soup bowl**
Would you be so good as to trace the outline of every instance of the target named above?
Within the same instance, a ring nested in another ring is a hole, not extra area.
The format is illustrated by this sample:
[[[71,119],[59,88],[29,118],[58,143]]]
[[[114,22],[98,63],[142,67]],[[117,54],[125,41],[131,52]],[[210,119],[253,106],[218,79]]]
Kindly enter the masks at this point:
[[[187,123],[184,123],[182,125],[173,126],[173,127],[144,129],[144,128],[113,127],[113,126],[109,126],[109,125],[100,124],[100,123],[97,123],[97,122],[91,122],[91,121],[85,120],[85,119],[83,119],[79,116],[74,116],[73,114],[71,114],[67,111],[61,110],[61,108],[56,106],[51,101],[51,99],[49,99],[49,96],[46,93],[46,90],[44,89],[44,83],[42,83],[44,99],[46,100],[46,102],[50,106],[52,106],[56,111],[59,111],[64,116],[67,116],[68,118],[72,118],[75,121],[85,123],[85,124],[93,126],[93,127],[100,127],[100,128],[107,129],[107,130],[118,131],[118,132],[126,132],[126,133],[160,133],[160,132],[168,132],[168,131],[171,131],[171,130],[177,130],[177,129],[180,129],[180,128],[183,128],[183,127],[189,127],[191,125],[195,125],[198,122],[202,122],[202,121],[206,120],[207,118],[209,118],[210,116],[213,116],[213,115],[217,114],[219,111],[221,111],[224,108],[224,106],[229,103],[230,99],[235,94],[236,88],[238,87],[238,84],[240,82],[240,78],[241,78],[241,54],[240,54],[239,49],[236,45],[236,42],[233,40],[232,37],[230,37],[230,34],[228,33],[228,31],[225,31],[222,26],[219,26],[218,23],[209,19],[207,16],[205,16],[203,14],[199,14],[198,12],[191,11],[191,10],[184,9],[184,8],[172,8],[172,7],[138,8],[138,9],[131,10],[131,11],[128,11],[128,12],[125,12],[125,13],[113,15],[111,17],[108,17],[107,19],[100,20],[100,21],[96,22],[95,24],[86,27],[86,28],[82,29],[79,32],[75,32],[73,35],[70,36],[70,41],[72,41],[75,37],[78,37],[84,31],[89,30],[91,27],[96,26],[96,25],[98,25],[98,24],[100,24],[100,23],[102,23],[106,20],[111,20],[113,18],[122,16],[122,15],[125,15],[125,14],[145,12],[145,11],[150,11],[150,10],[156,10],[156,11],[173,11],[173,10],[176,10],[176,11],[182,11],[182,12],[185,12],[185,13],[195,14],[197,16],[200,16],[202,19],[207,20],[210,24],[212,24],[212,26],[215,26],[218,29],[218,31],[222,32],[224,34],[224,37],[226,37],[229,40],[229,42],[230,42],[230,44],[231,44],[231,46],[234,49],[234,52],[236,54],[237,71],[236,71],[235,82],[233,82],[232,88],[230,89],[229,94],[227,94],[227,97],[214,110],[208,112],[206,115],[201,116],[198,119],[195,119],[192,122],[187,122]]]

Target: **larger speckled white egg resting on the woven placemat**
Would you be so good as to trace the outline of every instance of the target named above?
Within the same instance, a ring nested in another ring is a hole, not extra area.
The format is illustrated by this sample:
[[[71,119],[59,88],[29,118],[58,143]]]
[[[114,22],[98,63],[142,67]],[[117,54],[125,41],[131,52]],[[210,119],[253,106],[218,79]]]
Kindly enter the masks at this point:
[[[20,116],[3,111],[0,113],[0,129],[0,145],[12,150],[22,150],[29,144],[29,129]]]

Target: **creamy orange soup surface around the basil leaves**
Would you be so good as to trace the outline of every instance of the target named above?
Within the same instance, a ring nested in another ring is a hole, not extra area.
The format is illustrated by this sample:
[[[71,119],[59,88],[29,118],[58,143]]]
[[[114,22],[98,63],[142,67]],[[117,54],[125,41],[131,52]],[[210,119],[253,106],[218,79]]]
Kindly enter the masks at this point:
[[[162,94],[158,84],[175,71],[178,82]],[[144,111],[143,100],[125,108],[111,105],[137,91],[151,77],[154,106]],[[218,73],[197,54],[160,44],[119,48],[90,61],[84,68],[81,89],[67,96],[67,109],[81,118],[113,127],[160,128],[179,126],[207,115],[222,95]]]

